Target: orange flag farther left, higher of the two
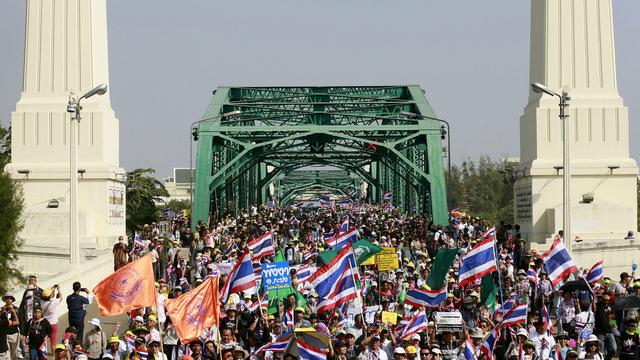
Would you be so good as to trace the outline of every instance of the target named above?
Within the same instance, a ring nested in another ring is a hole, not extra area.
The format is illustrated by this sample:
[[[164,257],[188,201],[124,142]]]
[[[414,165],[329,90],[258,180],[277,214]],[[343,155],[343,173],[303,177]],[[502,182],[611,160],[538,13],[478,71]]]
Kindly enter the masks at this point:
[[[100,315],[124,314],[156,303],[156,286],[151,256],[133,261],[102,280],[93,289]]]

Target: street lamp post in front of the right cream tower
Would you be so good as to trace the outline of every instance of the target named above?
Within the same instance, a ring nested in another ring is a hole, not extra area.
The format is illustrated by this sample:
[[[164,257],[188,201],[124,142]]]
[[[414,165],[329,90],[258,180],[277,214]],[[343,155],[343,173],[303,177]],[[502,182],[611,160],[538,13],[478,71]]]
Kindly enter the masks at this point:
[[[566,89],[562,90],[562,94],[549,89],[545,85],[535,82],[531,84],[531,88],[536,93],[545,93],[550,96],[557,96],[560,99],[560,121],[563,125],[563,150],[562,150],[562,237],[567,251],[571,253],[571,162],[570,162],[570,144],[571,144],[571,124],[569,122],[569,114],[566,110],[569,106],[571,97]]]

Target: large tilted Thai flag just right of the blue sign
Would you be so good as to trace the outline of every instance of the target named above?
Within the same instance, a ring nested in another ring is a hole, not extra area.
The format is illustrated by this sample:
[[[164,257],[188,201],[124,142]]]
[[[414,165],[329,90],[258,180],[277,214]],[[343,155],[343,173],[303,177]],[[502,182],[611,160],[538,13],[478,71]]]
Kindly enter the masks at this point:
[[[351,243],[347,243],[331,262],[309,277],[308,281],[316,289],[320,299],[316,305],[318,313],[331,310],[358,296],[349,259],[353,256],[352,247]]]

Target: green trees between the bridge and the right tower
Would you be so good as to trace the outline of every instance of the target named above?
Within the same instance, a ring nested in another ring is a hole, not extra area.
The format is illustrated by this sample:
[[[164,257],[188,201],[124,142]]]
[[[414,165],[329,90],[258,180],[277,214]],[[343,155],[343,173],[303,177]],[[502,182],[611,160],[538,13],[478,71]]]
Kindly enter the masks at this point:
[[[478,163],[465,160],[451,169],[450,204],[471,216],[491,222],[513,223],[513,177],[503,170],[502,163],[488,156]]]

